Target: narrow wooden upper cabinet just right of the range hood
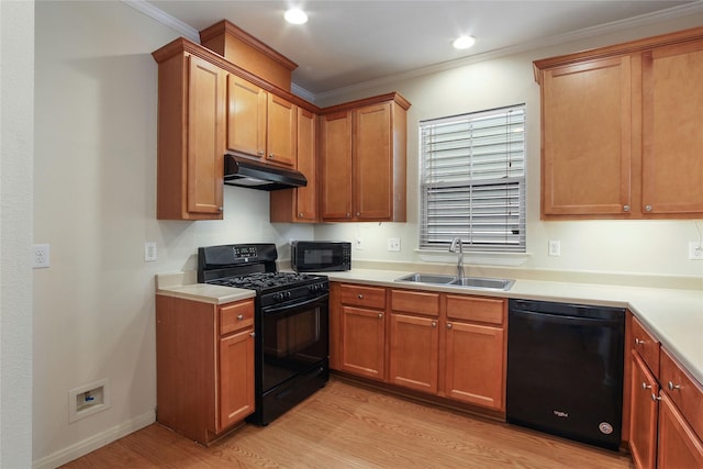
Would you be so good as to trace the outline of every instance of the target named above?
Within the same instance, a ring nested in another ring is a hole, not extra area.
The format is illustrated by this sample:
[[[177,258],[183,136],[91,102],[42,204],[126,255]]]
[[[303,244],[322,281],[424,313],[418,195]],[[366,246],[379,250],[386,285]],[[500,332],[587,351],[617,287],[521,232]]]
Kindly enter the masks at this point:
[[[298,170],[305,175],[308,186],[271,191],[271,222],[317,221],[316,126],[317,115],[298,108]]]

